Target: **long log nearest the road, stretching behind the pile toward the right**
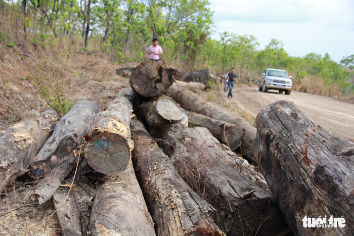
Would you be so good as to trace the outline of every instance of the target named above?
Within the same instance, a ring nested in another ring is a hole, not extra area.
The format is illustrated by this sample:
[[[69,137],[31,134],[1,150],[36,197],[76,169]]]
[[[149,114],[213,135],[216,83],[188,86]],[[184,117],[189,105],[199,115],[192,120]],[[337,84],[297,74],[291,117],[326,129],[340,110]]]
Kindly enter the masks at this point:
[[[176,84],[170,86],[168,91],[171,97],[181,104],[184,109],[206,115],[216,120],[232,123],[239,127],[238,133],[241,138],[242,157],[255,163],[256,160],[252,153],[252,144],[256,136],[255,127],[251,126],[244,118],[233,116],[220,109],[219,106],[205,101],[196,93]]]

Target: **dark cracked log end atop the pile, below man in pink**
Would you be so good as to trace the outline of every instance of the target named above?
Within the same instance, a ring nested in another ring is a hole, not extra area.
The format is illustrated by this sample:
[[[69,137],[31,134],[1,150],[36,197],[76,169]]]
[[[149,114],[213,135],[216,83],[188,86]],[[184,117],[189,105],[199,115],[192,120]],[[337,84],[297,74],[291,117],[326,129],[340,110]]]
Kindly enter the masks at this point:
[[[173,83],[174,69],[153,60],[142,62],[131,73],[131,88],[145,98],[161,95]]]

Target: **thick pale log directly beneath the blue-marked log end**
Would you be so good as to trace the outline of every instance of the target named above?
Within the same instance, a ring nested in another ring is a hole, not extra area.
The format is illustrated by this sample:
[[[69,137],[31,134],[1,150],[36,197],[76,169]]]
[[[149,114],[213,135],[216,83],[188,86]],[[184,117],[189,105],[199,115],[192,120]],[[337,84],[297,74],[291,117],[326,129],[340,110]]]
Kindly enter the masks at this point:
[[[97,186],[91,211],[93,235],[156,235],[131,161],[127,168],[106,175]]]

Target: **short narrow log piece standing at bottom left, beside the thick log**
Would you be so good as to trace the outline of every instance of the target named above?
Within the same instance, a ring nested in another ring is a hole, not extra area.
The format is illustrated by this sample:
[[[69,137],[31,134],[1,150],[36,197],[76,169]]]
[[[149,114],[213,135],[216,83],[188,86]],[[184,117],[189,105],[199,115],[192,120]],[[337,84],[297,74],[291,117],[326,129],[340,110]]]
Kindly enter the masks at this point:
[[[68,197],[66,197],[67,195]],[[53,195],[53,202],[57,209],[61,234],[63,236],[83,235],[81,230],[82,215],[75,191],[71,190],[69,193],[68,188],[58,189]]]

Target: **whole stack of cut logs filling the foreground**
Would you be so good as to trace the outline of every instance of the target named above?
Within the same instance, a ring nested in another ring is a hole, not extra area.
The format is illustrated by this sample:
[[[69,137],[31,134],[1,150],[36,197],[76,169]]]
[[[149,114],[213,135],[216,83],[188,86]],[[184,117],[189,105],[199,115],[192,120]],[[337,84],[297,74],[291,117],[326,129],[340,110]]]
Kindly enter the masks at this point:
[[[182,73],[145,61],[105,111],[80,101],[49,138],[53,112],[37,119],[42,133],[3,131],[14,145],[2,153],[18,159],[1,157],[1,190],[26,171],[43,177],[30,195],[53,198],[63,235],[354,233],[352,224],[303,227],[306,215],[353,219],[354,144],[287,101],[265,107],[255,128],[193,92],[204,85],[175,81],[190,75]],[[84,170],[102,173],[89,224],[75,192],[60,186],[75,166],[85,190]]]

